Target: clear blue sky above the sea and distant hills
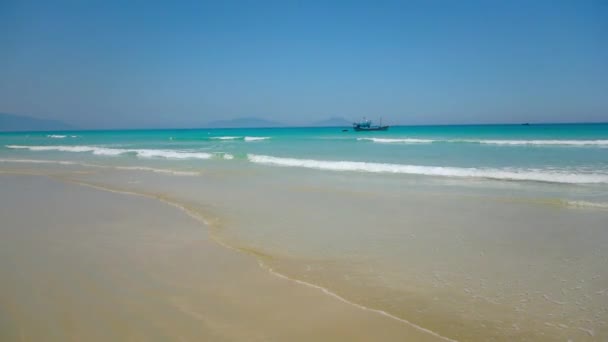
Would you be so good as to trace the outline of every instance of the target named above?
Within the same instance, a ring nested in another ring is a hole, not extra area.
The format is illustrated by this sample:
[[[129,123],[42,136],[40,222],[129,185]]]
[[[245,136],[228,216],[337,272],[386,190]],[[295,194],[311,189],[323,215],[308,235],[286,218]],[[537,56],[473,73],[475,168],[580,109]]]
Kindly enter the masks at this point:
[[[81,128],[608,121],[608,1],[0,0],[0,112]]]

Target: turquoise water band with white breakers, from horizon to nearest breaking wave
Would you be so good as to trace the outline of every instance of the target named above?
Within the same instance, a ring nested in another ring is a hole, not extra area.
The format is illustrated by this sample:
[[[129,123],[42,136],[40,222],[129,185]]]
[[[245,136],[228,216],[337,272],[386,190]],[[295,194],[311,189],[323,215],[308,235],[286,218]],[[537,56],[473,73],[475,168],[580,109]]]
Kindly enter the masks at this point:
[[[177,168],[223,159],[344,172],[608,183],[608,124],[9,133],[0,135],[0,146],[5,157],[155,159],[179,161]]]

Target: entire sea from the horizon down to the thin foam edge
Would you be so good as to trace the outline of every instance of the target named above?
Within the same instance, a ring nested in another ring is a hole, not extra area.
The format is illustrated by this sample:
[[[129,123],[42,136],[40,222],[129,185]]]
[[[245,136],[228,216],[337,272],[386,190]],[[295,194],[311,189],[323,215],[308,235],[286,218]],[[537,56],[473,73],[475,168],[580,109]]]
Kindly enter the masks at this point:
[[[0,172],[157,198],[447,340],[608,340],[608,124],[0,133]]]

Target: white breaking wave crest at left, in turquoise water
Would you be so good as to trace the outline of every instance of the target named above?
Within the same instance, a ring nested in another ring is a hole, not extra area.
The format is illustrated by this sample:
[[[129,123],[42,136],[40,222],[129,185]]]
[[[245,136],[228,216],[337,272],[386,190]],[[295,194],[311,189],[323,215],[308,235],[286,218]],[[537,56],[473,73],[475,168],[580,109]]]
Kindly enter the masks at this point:
[[[118,156],[125,153],[133,153],[141,158],[166,158],[166,159],[210,159],[211,153],[173,151],[173,150],[154,150],[154,149],[124,149],[107,148],[97,146],[25,146],[7,145],[12,149],[27,149],[30,151],[59,151],[59,152],[91,152],[95,155]]]

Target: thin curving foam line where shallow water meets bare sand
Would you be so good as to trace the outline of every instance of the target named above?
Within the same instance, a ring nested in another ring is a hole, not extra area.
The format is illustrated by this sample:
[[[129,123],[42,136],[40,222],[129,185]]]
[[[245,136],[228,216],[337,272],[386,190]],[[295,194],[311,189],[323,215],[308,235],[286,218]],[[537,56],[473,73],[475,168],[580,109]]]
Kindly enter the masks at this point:
[[[211,226],[211,223],[208,220],[206,220],[203,215],[199,214],[198,212],[196,212],[193,209],[188,208],[188,206],[180,203],[179,201],[171,199],[171,198],[166,197],[166,196],[159,196],[159,195],[150,194],[150,193],[140,193],[140,192],[129,191],[129,190],[118,190],[118,189],[110,188],[110,187],[107,187],[107,186],[86,183],[86,182],[83,182],[83,181],[75,181],[75,180],[65,180],[65,181],[68,181],[68,182],[71,182],[71,183],[74,183],[74,184],[78,184],[78,185],[81,185],[81,186],[91,187],[91,188],[94,188],[94,189],[97,189],[97,190],[102,190],[102,191],[108,191],[108,192],[113,192],[113,193],[118,193],[118,194],[124,194],[124,195],[139,196],[139,197],[144,197],[144,198],[153,198],[153,199],[156,199],[156,200],[158,200],[160,202],[163,202],[163,203],[165,203],[167,205],[170,205],[172,207],[175,207],[175,208],[181,210],[186,215],[190,216],[191,218],[193,218],[196,221],[202,222],[203,224],[205,224],[208,227]],[[221,241],[219,238],[216,238],[216,237],[213,237],[213,236],[212,236],[212,238],[213,238],[213,241],[215,241],[220,246],[223,246],[225,248],[231,249],[231,250],[239,252],[239,253],[251,255],[251,253],[247,253],[247,252],[243,251],[242,249],[239,249],[237,247],[231,246],[231,245],[229,245],[229,244]],[[414,323],[412,323],[412,322],[410,322],[410,321],[408,321],[406,319],[403,319],[401,317],[392,315],[392,314],[390,314],[390,313],[388,313],[388,312],[386,312],[384,310],[374,309],[374,308],[370,308],[370,307],[367,307],[367,306],[362,305],[362,304],[351,302],[348,299],[340,296],[339,294],[337,294],[335,292],[330,291],[329,289],[327,289],[327,288],[325,288],[323,286],[316,285],[316,284],[313,284],[313,283],[309,283],[307,281],[303,281],[303,280],[300,280],[300,279],[291,278],[291,277],[289,277],[287,275],[284,275],[282,273],[279,273],[279,272],[275,271],[270,266],[266,265],[259,258],[256,258],[256,259],[258,261],[258,265],[260,266],[260,268],[268,271],[268,273],[270,273],[271,275],[274,275],[277,278],[284,279],[284,280],[291,281],[291,282],[294,282],[294,283],[299,284],[299,285],[303,285],[303,286],[306,286],[306,287],[310,287],[310,288],[319,290],[319,291],[323,292],[325,295],[328,295],[328,296],[330,296],[332,298],[335,298],[335,299],[337,299],[337,300],[339,300],[339,301],[341,301],[341,302],[343,302],[345,304],[354,306],[354,307],[356,307],[358,309],[361,309],[361,310],[364,310],[364,311],[373,312],[375,314],[378,314],[378,315],[381,315],[381,316],[393,319],[395,321],[398,321],[398,322],[401,322],[403,324],[406,324],[406,325],[408,325],[408,326],[410,326],[410,327],[412,327],[414,329],[417,329],[419,331],[428,333],[428,334],[430,334],[432,336],[435,336],[435,337],[437,337],[439,339],[442,339],[444,341],[458,342],[458,340],[454,340],[454,339],[451,339],[449,337],[443,336],[443,335],[441,335],[441,334],[439,334],[437,332],[434,332],[434,331],[432,331],[430,329],[426,329],[426,328],[421,327],[421,326],[419,326],[417,324],[414,324]]]

